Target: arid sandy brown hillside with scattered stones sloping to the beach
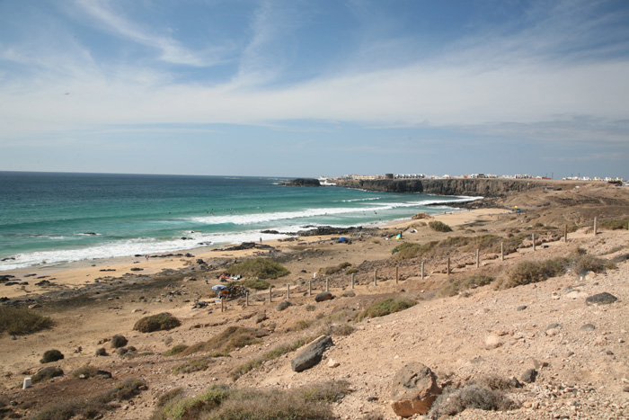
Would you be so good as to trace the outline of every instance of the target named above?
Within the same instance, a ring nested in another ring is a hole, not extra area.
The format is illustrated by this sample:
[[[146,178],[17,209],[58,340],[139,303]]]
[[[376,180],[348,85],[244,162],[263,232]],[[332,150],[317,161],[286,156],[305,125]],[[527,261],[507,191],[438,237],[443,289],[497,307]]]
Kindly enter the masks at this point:
[[[190,398],[217,384],[280,392],[342,381],[342,395],[329,403],[332,416],[395,419],[400,417],[392,408],[392,381],[411,362],[428,366],[441,389],[488,379],[518,382],[518,387],[501,388],[512,409],[468,408],[450,418],[629,418],[629,231],[626,226],[606,228],[610,220],[629,218],[629,188],[563,186],[506,194],[469,207],[434,218],[451,227],[450,232],[430,228],[432,218],[413,219],[357,230],[347,235],[350,244],[339,243],[340,235],[295,237],[245,250],[205,249],[192,256],[0,273],[28,281],[0,284],[0,297],[7,298],[2,305],[31,307],[54,322],[32,334],[0,335],[0,418],[31,418],[55,405],[95,398],[134,378],[146,382],[137,396],[112,401],[93,418],[151,418],[160,397],[173,389]],[[400,232],[403,238],[394,239]],[[505,246],[504,258],[501,242],[516,244]],[[403,243],[437,245],[403,259],[402,251],[392,253]],[[481,249],[478,266],[476,249]],[[545,281],[509,287],[518,264],[571,255],[588,255],[605,267],[595,273],[572,265]],[[222,310],[210,288],[232,264],[253,257],[272,259],[290,273],[269,280],[271,301],[269,290],[252,290],[248,305],[244,298],[227,299]],[[346,267],[338,273],[323,273],[340,264]],[[353,288],[348,268],[355,269]],[[489,280],[482,286],[457,286],[471,276]],[[35,284],[42,280],[49,283]],[[315,302],[326,280],[334,299]],[[617,300],[586,302],[603,292]],[[360,319],[370,305],[390,298],[417,304]],[[138,319],[162,312],[182,325],[151,333],[134,330]],[[164,355],[178,344],[206,342],[230,326],[249,327],[260,336],[242,347],[223,348],[219,355],[209,347]],[[306,371],[291,369],[300,348],[277,357],[268,354],[282,344],[321,334],[331,335],[333,345]],[[113,335],[124,335],[135,351],[117,353]],[[96,355],[101,348],[107,355]],[[64,358],[40,363],[51,349]],[[202,370],[182,369],[200,359]],[[242,369],[252,361],[259,362]],[[87,365],[111,372],[112,378],[72,375]],[[22,389],[24,378],[48,366],[64,375]],[[523,380],[529,370],[536,371],[536,378]]]

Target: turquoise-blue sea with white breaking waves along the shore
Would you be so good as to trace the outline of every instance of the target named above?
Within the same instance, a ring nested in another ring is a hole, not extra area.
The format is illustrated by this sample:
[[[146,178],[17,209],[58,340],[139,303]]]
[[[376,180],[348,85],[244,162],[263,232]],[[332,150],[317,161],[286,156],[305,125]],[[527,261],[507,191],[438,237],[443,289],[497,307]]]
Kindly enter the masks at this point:
[[[0,272],[368,226],[466,201],[421,193],[281,186],[281,178],[0,172]],[[211,244],[211,245],[208,245]]]

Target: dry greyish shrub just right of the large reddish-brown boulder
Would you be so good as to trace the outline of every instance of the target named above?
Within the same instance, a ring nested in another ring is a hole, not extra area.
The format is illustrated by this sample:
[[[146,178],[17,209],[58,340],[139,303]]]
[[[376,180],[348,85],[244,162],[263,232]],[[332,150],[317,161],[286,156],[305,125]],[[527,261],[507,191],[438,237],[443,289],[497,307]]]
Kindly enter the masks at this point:
[[[461,389],[444,391],[430,407],[429,416],[433,420],[437,420],[441,416],[455,416],[466,408],[506,411],[516,407],[516,403],[501,391],[472,384]]]

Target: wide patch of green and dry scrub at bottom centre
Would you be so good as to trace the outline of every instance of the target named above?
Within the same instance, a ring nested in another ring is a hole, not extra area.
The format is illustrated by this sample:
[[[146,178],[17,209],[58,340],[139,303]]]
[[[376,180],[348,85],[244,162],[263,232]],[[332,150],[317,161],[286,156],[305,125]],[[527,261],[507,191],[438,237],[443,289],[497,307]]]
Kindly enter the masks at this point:
[[[299,389],[231,389],[213,385],[194,398],[174,398],[158,407],[153,420],[324,420],[333,418],[329,404],[350,392],[345,381],[323,382]]]

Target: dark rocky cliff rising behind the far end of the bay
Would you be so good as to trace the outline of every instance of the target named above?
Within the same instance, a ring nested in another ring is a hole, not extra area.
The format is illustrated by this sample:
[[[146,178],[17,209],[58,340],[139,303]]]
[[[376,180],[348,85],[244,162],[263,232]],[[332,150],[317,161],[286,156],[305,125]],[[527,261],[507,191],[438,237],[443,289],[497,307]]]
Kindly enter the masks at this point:
[[[514,192],[541,189],[571,189],[575,182],[517,179],[377,179],[341,180],[338,185],[366,191],[426,192],[439,195],[504,197]]]

